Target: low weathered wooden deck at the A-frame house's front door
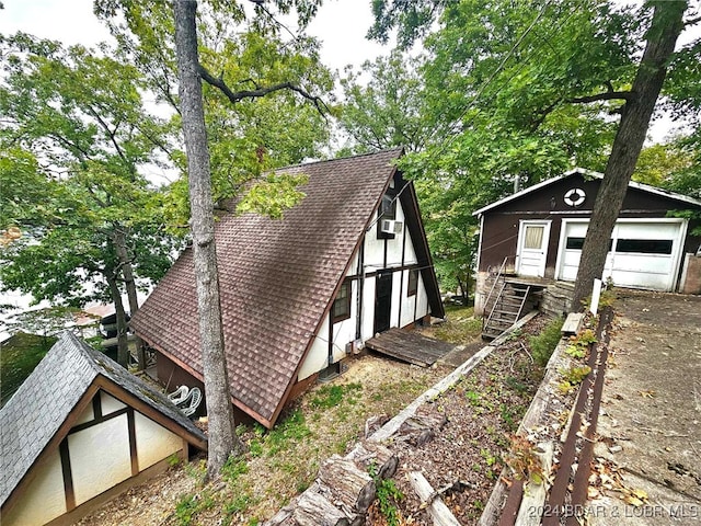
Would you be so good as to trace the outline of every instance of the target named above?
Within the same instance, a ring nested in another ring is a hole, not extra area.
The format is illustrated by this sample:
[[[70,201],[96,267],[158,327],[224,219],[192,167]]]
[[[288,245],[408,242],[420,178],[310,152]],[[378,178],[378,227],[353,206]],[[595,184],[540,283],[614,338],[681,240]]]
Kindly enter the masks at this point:
[[[380,354],[391,356],[402,362],[428,367],[441,358],[456,346],[424,336],[414,331],[390,329],[371,338],[365,345]]]

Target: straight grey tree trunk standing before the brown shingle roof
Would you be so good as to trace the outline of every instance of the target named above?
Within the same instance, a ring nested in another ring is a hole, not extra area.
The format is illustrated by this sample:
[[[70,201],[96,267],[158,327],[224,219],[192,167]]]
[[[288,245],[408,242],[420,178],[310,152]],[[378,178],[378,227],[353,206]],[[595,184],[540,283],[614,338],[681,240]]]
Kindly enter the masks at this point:
[[[216,477],[229,456],[241,453],[243,445],[235,434],[223,350],[209,150],[198,73],[196,9],[197,2],[194,0],[173,2],[181,112],[189,178],[202,362],[209,418],[207,476]]]

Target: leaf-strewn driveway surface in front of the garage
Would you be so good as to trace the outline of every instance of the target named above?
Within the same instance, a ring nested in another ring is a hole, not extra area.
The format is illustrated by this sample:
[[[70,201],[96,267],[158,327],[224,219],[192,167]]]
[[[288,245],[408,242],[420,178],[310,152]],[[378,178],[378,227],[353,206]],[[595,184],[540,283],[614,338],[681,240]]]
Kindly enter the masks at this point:
[[[701,297],[625,290],[613,307],[595,455],[621,484],[590,489],[591,523],[701,524]]]

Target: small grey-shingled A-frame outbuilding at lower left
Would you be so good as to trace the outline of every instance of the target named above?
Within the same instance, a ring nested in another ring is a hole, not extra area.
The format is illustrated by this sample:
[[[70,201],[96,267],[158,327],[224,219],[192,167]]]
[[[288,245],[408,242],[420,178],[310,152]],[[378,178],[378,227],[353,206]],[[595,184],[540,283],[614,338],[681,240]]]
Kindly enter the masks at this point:
[[[2,525],[62,525],[207,438],[163,393],[65,332],[0,411],[0,447]]]

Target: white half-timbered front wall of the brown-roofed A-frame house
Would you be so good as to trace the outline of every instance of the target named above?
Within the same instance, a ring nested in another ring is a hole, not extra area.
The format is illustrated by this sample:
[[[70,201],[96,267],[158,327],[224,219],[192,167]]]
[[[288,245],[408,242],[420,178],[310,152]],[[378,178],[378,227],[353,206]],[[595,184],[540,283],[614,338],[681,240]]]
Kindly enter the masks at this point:
[[[377,213],[375,214],[377,218]],[[417,264],[411,233],[406,228],[404,210],[401,203],[397,202],[395,220],[402,221],[402,233],[394,239],[378,239],[377,225],[374,224],[365,235],[363,244],[363,261],[365,274],[358,274],[358,253],[350,261],[346,277],[352,282],[350,318],[333,324],[333,362],[338,362],[346,356],[346,344],[356,340],[358,318],[358,291],[363,289],[363,310],[360,312],[360,341],[365,342],[375,335],[375,295],[376,281],[379,271],[392,270],[392,301],[390,310],[390,327],[406,327],[426,316],[429,312],[426,288],[418,274],[418,285],[415,296],[407,296],[409,274],[411,265]],[[403,252],[403,253],[402,253]],[[401,308],[400,308],[401,306]],[[400,319],[401,318],[401,319]],[[298,380],[303,380],[329,365],[329,315],[326,315],[321,329],[298,375]]]

